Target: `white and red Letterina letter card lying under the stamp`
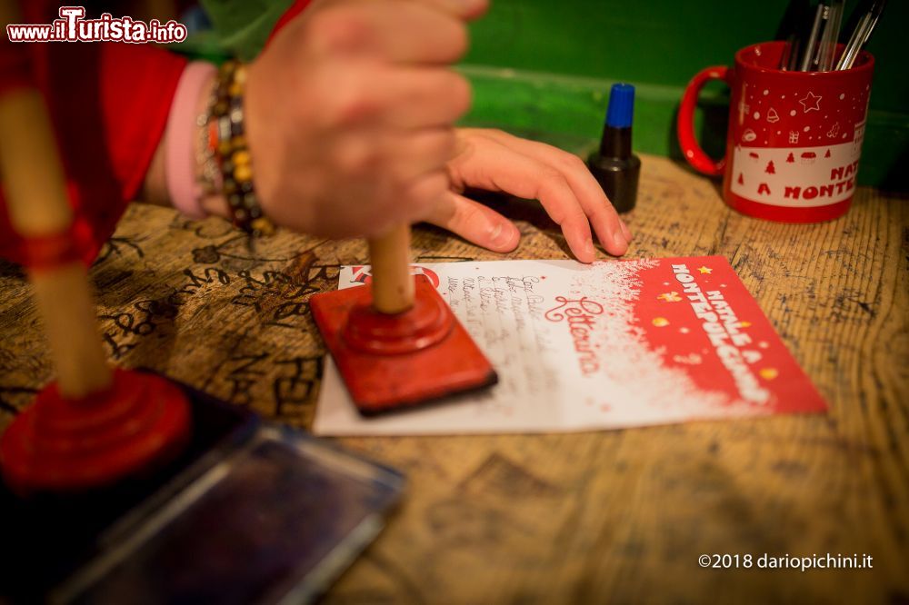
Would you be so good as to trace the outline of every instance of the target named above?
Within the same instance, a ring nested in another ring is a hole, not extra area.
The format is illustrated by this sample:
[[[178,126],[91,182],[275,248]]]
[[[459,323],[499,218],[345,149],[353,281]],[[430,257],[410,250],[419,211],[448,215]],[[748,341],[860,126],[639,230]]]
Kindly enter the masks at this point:
[[[345,267],[340,287],[368,283]],[[364,420],[326,363],[322,434],[584,431],[826,404],[723,257],[427,263],[500,382]]]

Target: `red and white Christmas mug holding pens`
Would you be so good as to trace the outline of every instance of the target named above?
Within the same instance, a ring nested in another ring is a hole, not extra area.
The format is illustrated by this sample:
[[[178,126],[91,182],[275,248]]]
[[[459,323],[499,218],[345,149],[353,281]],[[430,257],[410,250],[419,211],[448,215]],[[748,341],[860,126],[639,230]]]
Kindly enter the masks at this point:
[[[695,170],[723,174],[723,197],[735,210],[783,223],[829,221],[852,203],[874,57],[863,52],[844,71],[791,72],[778,68],[783,52],[783,42],[746,46],[734,67],[696,74],[679,109],[679,144]],[[694,135],[694,106],[710,80],[732,89],[718,161]]]

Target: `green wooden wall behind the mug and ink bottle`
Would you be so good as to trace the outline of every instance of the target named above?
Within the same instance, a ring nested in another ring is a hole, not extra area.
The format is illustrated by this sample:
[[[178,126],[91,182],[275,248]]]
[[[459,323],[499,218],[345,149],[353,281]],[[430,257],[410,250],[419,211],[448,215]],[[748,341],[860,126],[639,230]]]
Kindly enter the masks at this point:
[[[858,4],[846,0],[847,15]],[[599,136],[609,86],[637,86],[634,145],[681,157],[674,116],[699,69],[731,64],[736,49],[774,39],[787,0],[492,0],[471,25],[461,70],[474,83],[468,124],[524,133]],[[859,181],[907,191],[909,1],[891,0],[868,45],[876,60]],[[705,147],[722,154],[727,91],[702,95]]]

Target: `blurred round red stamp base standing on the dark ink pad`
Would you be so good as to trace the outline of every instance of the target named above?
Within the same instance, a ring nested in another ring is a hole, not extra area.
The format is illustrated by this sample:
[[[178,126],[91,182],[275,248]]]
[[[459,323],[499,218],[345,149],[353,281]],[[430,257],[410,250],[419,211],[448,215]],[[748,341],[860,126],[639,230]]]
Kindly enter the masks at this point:
[[[190,424],[183,392],[153,374],[118,369],[109,391],[84,400],[51,382],[6,429],[0,464],[20,493],[86,491],[169,461]]]

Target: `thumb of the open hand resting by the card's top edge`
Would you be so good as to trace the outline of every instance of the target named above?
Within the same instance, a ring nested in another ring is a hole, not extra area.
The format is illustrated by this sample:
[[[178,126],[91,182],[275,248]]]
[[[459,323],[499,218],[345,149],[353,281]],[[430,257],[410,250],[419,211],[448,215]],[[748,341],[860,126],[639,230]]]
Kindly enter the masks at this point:
[[[448,192],[425,220],[497,253],[513,251],[521,239],[514,223],[502,214],[454,192]]]

